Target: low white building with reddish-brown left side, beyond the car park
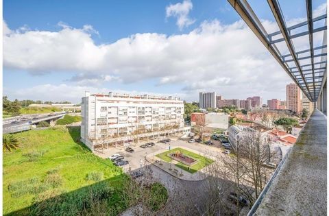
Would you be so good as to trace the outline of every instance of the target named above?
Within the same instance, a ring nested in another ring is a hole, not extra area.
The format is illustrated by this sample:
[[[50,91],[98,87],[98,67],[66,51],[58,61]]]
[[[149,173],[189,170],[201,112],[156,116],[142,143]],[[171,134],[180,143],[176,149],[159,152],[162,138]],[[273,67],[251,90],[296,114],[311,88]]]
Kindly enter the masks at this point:
[[[201,125],[210,130],[228,130],[228,117],[229,115],[218,112],[194,112],[191,114],[191,125]]]

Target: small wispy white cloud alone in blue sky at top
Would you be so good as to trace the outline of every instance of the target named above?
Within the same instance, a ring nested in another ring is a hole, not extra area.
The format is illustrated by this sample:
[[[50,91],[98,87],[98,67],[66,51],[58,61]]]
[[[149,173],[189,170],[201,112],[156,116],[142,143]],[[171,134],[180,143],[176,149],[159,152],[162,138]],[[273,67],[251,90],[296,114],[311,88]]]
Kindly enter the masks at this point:
[[[182,30],[184,27],[195,23],[194,19],[188,17],[188,13],[193,8],[190,0],[184,0],[182,3],[176,3],[166,7],[166,17],[173,16],[177,18],[176,25]]]

